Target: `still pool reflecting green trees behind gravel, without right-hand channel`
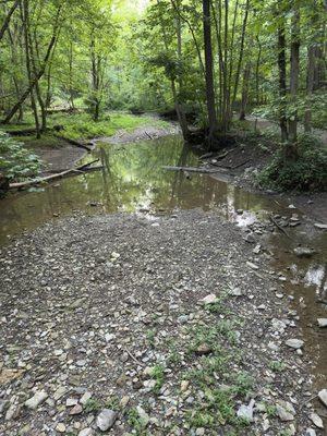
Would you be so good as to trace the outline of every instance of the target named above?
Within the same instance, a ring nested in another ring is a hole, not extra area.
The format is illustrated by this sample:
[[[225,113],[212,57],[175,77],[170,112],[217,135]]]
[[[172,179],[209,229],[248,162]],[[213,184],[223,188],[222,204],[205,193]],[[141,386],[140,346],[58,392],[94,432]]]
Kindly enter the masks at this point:
[[[8,234],[33,229],[53,216],[73,210],[106,213],[213,208],[229,220],[246,225],[258,210],[271,205],[253,195],[205,174],[166,171],[162,166],[198,166],[198,158],[179,136],[129,145],[99,145],[92,159],[99,158],[101,171],[64,179],[44,192],[19,193],[0,202],[0,243]],[[99,207],[92,207],[97,204]],[[247,210],[244,216],[237,209]]]

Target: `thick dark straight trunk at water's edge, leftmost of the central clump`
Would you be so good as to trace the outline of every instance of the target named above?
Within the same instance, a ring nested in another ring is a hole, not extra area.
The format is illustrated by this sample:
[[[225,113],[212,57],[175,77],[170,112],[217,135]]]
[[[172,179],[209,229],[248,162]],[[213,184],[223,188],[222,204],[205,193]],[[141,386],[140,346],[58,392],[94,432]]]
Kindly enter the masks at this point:
[[[214,86],[214,59],[211,44],[211,22],[210,22],[210,0],[203,0],[203,31],[204,31],[204,49],[205,49],[205,66],[206,66],[206,99],[209,119],[208,146],[214,145],[214,136],[217,131],[217,114],[215,106],[215,86]]]

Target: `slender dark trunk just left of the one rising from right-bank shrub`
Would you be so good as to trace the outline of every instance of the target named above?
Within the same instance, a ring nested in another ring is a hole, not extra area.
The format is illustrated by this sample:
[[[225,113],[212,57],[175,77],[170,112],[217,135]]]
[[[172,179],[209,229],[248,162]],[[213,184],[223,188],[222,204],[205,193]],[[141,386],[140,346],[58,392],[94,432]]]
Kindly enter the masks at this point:
[[[288,125],[286,118],[286,98],[287,98],[287,68],[286,68],[286,37],[284,21],[279,19],[278,24],[278,73],[279,73],[279,126],[281,141],[289,138]]]

